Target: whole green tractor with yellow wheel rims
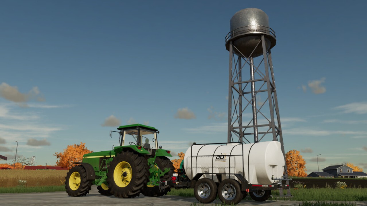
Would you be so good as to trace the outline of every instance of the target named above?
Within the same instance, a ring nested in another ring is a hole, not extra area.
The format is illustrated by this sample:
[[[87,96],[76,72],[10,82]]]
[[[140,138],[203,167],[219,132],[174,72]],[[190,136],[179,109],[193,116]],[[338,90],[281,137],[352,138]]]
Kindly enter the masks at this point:
[[[92,152],[83,156],[83,162],[66,174],[65,188],[69,196],[84,196],[92,185],[97,185],[101,195],[133,198],[163,196],[171,191],[174,172],[169,150],[158,147],[157,133],[150,126],[134,124],[120,126],[120,146],[113,150]],[[112,132],[110,136],[112,137]],[[152,141],[152,145],[149,143]]]

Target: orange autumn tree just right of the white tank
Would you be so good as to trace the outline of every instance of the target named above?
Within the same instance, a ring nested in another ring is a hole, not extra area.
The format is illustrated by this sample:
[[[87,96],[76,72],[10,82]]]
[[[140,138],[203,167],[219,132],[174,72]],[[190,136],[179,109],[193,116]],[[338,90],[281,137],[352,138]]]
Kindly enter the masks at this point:
[[[291,177],[306,177],[306,161],[297,150],[288,151],[286,154],[287,172]]]

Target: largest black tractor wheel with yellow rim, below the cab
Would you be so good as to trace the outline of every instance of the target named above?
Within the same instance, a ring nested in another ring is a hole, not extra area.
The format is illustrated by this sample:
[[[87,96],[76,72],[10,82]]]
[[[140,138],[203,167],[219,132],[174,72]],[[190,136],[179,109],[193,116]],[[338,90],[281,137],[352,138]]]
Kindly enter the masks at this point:
[[[133,198],[140,194],[148,177],[148,161],[135,152],[123,151],[110,162],[107,183],[116,197]]]

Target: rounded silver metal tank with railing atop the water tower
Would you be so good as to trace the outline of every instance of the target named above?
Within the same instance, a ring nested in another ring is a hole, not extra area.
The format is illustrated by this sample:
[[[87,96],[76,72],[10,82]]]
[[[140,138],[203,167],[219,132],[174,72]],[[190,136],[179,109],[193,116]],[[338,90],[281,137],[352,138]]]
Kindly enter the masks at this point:
[[[226,36],[226,49],[229,42],[238,49],[233,52],[248,58],[262,55],[261,35],[265,35],[266,49],[273,48],[276,43],[275,32],[269,27],[269,17],[258,8],[245,8],[236,12],[230,19],[230,32]],[[258,45],[258,46],[257,46]],[[256,47],[257,46],[257,47]],[[256,48],[256,49],[255,49]]]

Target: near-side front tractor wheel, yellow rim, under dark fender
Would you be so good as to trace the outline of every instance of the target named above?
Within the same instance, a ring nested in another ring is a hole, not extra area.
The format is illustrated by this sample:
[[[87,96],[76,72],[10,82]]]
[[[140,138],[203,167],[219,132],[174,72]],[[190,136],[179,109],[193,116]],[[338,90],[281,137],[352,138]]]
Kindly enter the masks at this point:
[[[81,165],[71,168],[65,177],[65,189],[69,196],[79,197],[89,193],[92,181],[87,180],[87,172]]]

